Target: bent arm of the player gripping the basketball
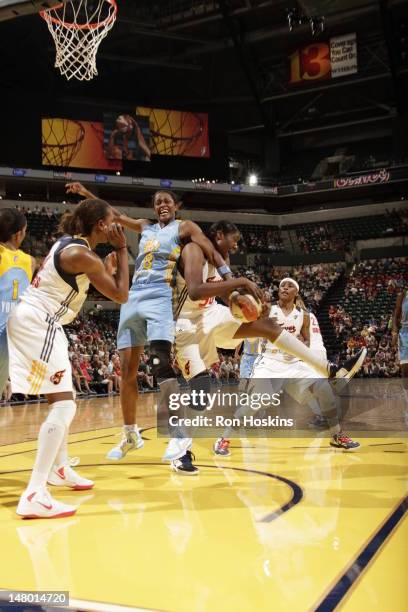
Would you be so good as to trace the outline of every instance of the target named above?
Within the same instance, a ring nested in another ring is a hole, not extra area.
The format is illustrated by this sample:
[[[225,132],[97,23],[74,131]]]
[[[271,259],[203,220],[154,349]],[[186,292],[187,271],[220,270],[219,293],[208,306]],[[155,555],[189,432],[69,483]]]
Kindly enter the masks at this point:
[[[190,299],[194,302],[210,297],[228,297],[233,291],[242,289],[257,299],[262,299],[262,291],[248,278],[237,277],[219,283],[203,282],[203,266],[205,258],[201,248],[191,242],[181,252],[181,264],[184,270],[184,280]]]

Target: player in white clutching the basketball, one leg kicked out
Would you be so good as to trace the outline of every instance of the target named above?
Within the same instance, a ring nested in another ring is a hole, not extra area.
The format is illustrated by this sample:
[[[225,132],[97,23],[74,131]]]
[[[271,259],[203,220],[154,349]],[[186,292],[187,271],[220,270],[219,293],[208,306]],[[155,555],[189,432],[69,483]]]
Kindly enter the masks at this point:
[[[228,262],[229,253],[236,251],[240,238],[237,227],[228,221],[219,221],[211,226],[209,235],[214,247]],[[233,349],[244,338],[266,338],[273,343],[275,350],[304,361],[315,370],[315,376],[324,378],[352,376],[364,361],[364,352],[360,351],[342,366],[336,366],[272,318],[239,322],[228,307],[215,302],[216,296],[230,296],[236,289],[234,280],[222,281],[194,243],[186,245],[181,253],[177,284],[176,355],[183,376],[189,380],[192,389],[209,392],[208,370],[218,361],[217,347]],[[170,440],[164,458],[172,462],[174,470],[187,474],[197,472],[192,465],[191,445],[191,438]]]

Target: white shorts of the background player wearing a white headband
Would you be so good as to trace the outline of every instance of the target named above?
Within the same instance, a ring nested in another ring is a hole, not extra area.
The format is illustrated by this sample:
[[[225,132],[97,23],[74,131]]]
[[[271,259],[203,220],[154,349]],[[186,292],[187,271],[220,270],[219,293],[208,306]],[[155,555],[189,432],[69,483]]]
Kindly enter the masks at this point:
[[[308,394],[307,389],[313,385],[319,374],[303,361],[278,361],[267,355],[259,355],[255,361],[253,379],[273,379],[271,385],[274,391],[284,389],[297,402],[304,402]],[[294,379],[291,382],[290,379]]]

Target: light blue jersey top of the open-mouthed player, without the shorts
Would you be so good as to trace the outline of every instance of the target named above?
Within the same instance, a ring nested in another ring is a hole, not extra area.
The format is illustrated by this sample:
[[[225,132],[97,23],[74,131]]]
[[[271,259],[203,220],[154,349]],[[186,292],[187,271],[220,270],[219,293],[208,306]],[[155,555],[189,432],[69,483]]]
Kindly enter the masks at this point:
[[[180,221],[148,225],[140,236],[132,289],[156,283],[174,287],[180,257]]]

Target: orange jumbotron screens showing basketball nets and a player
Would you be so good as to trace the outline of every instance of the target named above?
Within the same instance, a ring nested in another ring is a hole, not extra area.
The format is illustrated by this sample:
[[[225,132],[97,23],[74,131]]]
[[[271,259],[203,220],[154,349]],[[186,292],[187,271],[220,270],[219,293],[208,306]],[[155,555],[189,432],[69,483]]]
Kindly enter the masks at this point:
[[[138,106],[106,112],[103,121],[42,119],[45,166],[121,170],[124,160],[155,155],[208,158],[207,113]]]

